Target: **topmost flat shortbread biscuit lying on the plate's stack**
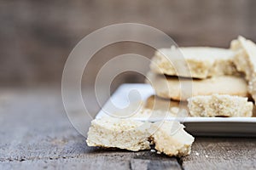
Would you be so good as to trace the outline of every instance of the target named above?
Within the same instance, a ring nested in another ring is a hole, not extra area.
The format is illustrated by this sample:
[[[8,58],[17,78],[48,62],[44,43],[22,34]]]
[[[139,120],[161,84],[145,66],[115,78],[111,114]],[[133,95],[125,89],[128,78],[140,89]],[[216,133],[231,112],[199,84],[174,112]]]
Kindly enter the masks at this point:
[[[235,53],[224,48],[161,48],[155,52],[150,69],[169,76],[207,77],[236,75]]]

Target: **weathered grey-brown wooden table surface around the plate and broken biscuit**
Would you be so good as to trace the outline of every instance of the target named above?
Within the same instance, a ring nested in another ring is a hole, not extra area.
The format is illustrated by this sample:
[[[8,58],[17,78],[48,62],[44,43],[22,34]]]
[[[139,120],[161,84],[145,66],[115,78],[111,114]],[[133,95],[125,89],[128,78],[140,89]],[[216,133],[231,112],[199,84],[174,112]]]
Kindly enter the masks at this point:
[[[0,90],[0,127],[0,169],[256,168],[256,138],[195,137],[191,155],[182,158],[88,147],[59,88]]]

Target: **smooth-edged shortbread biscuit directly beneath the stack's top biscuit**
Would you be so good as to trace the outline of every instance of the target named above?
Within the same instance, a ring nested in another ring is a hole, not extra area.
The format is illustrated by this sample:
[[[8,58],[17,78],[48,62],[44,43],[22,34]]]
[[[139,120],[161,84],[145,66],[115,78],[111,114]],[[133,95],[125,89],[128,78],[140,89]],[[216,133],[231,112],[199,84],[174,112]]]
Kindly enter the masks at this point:
[[[197,95],[230,94],[248,97],[247,82],[242,77],[222,76],[207,79],[165,77],[148,73],[148,80],[155,94],[165,99],[186,100]],[[183,89],[182,89],[183,88]]]

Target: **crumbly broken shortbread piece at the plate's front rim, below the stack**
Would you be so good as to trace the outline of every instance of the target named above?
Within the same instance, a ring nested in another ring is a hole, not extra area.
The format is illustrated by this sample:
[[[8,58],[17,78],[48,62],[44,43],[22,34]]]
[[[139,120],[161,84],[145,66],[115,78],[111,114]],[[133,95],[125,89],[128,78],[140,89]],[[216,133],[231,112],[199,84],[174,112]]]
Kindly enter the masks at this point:
[[[191,116],[253,116],[253,102],[247,98],[213,94],[188,99]]]

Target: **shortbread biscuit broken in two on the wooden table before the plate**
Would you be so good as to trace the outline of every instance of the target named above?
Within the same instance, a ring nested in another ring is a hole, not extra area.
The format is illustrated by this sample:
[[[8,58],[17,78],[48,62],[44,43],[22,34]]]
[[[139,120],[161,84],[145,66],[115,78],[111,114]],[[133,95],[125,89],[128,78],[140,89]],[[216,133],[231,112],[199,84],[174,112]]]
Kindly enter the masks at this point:
[[[91,122],[86,142],[89,146],[125,150],[149,150],[150,144],[168,156],[186,156],[194,138],[179,122],[139,122],[104,117]]]

